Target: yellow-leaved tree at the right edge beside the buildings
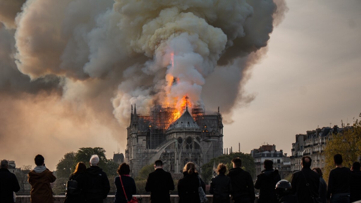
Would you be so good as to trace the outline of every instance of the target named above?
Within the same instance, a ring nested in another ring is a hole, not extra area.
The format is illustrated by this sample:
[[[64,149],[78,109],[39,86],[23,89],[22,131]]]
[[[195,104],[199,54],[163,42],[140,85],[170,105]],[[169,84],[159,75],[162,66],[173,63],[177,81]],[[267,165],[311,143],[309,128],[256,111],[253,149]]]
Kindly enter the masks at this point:
[[[361,117],[361,113],[360,116]],[[343,165],[351,167],[352,163],[361,156],[361,120],[354,120],[353,125],[347,124],[341,133],[334,132],[325,147],[325,167],[323,168],[323,178],[328,181],[330,171],[335,168],[334,155],[341,154]]]

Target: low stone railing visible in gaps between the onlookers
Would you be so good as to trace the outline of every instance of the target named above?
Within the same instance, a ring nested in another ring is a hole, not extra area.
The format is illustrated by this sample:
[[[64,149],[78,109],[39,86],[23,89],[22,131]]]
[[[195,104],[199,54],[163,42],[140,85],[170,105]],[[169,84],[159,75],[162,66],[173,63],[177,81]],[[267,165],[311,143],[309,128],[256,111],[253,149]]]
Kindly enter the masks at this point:
[[[150,201],[150,195],[134,195],[137,198],[141,197],[142,200],[139,203],[148,203]],[[54,196],[54,203],[63,203],[65,199],[65,195],[55,195]],[[213,202],[213,195],[207,195],[208,202]],[[16,197],[17,203],[30,203],[30,196],[17,196]],[[178,203],[179,197],[178,195],[170,195],[170,202],[171,203]],[[233,202],[232,200],[230,202]],[[108,195],[106,199],[104,199],[103,203],[114,203],[114,195]]]

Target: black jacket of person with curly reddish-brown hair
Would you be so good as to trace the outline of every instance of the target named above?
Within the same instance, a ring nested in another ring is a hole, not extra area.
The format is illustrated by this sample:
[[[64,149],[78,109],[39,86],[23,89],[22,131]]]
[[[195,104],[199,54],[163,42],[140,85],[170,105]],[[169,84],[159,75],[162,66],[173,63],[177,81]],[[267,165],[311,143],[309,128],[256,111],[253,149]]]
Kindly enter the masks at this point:
[[[213,194],[213,203],[229,202],[229,195],[232,191],[231,178],[225,174],[218,174],[210,182],[209,193]]]

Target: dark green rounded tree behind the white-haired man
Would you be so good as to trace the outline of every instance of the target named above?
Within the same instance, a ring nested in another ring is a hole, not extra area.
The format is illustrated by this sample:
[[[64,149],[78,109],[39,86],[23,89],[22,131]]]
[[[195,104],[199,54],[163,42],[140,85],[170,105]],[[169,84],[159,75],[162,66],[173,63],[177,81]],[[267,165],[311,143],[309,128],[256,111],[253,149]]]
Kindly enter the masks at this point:
[[[106,159],[105,150],[102,147],[82,147],[79,148],[75,155],[75,162],[83,161],[87,167],[90,167],[89,161],[92,155],[99,156],[99,167],[105,168],[105,164],[109,161]]]

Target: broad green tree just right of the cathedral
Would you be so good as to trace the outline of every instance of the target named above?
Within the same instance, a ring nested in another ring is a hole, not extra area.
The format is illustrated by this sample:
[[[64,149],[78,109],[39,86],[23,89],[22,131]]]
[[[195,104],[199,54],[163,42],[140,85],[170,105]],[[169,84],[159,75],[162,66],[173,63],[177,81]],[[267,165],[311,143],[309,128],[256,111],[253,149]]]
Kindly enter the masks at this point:
[[[202,177],[205,182],[210,181],[210,179],[213,176],[213,165],[216,164],[216,167],[218,163],[223,163],[227,165],[227,169],[233,168],[233,165],[231,163],[231,160],[239,157],[242,160],[242,168],[249,172],[251,176],[255,176],[256,168],[255,168],[255,162],[253,160],[253,157],[251,154],[244,154],[243,152],[233,152],[229,155],[221,155],[219,157],[215,157],[211,159],[208,163],[203,164],[202,166]],[[228,171],[227,171],[228,172]]]

